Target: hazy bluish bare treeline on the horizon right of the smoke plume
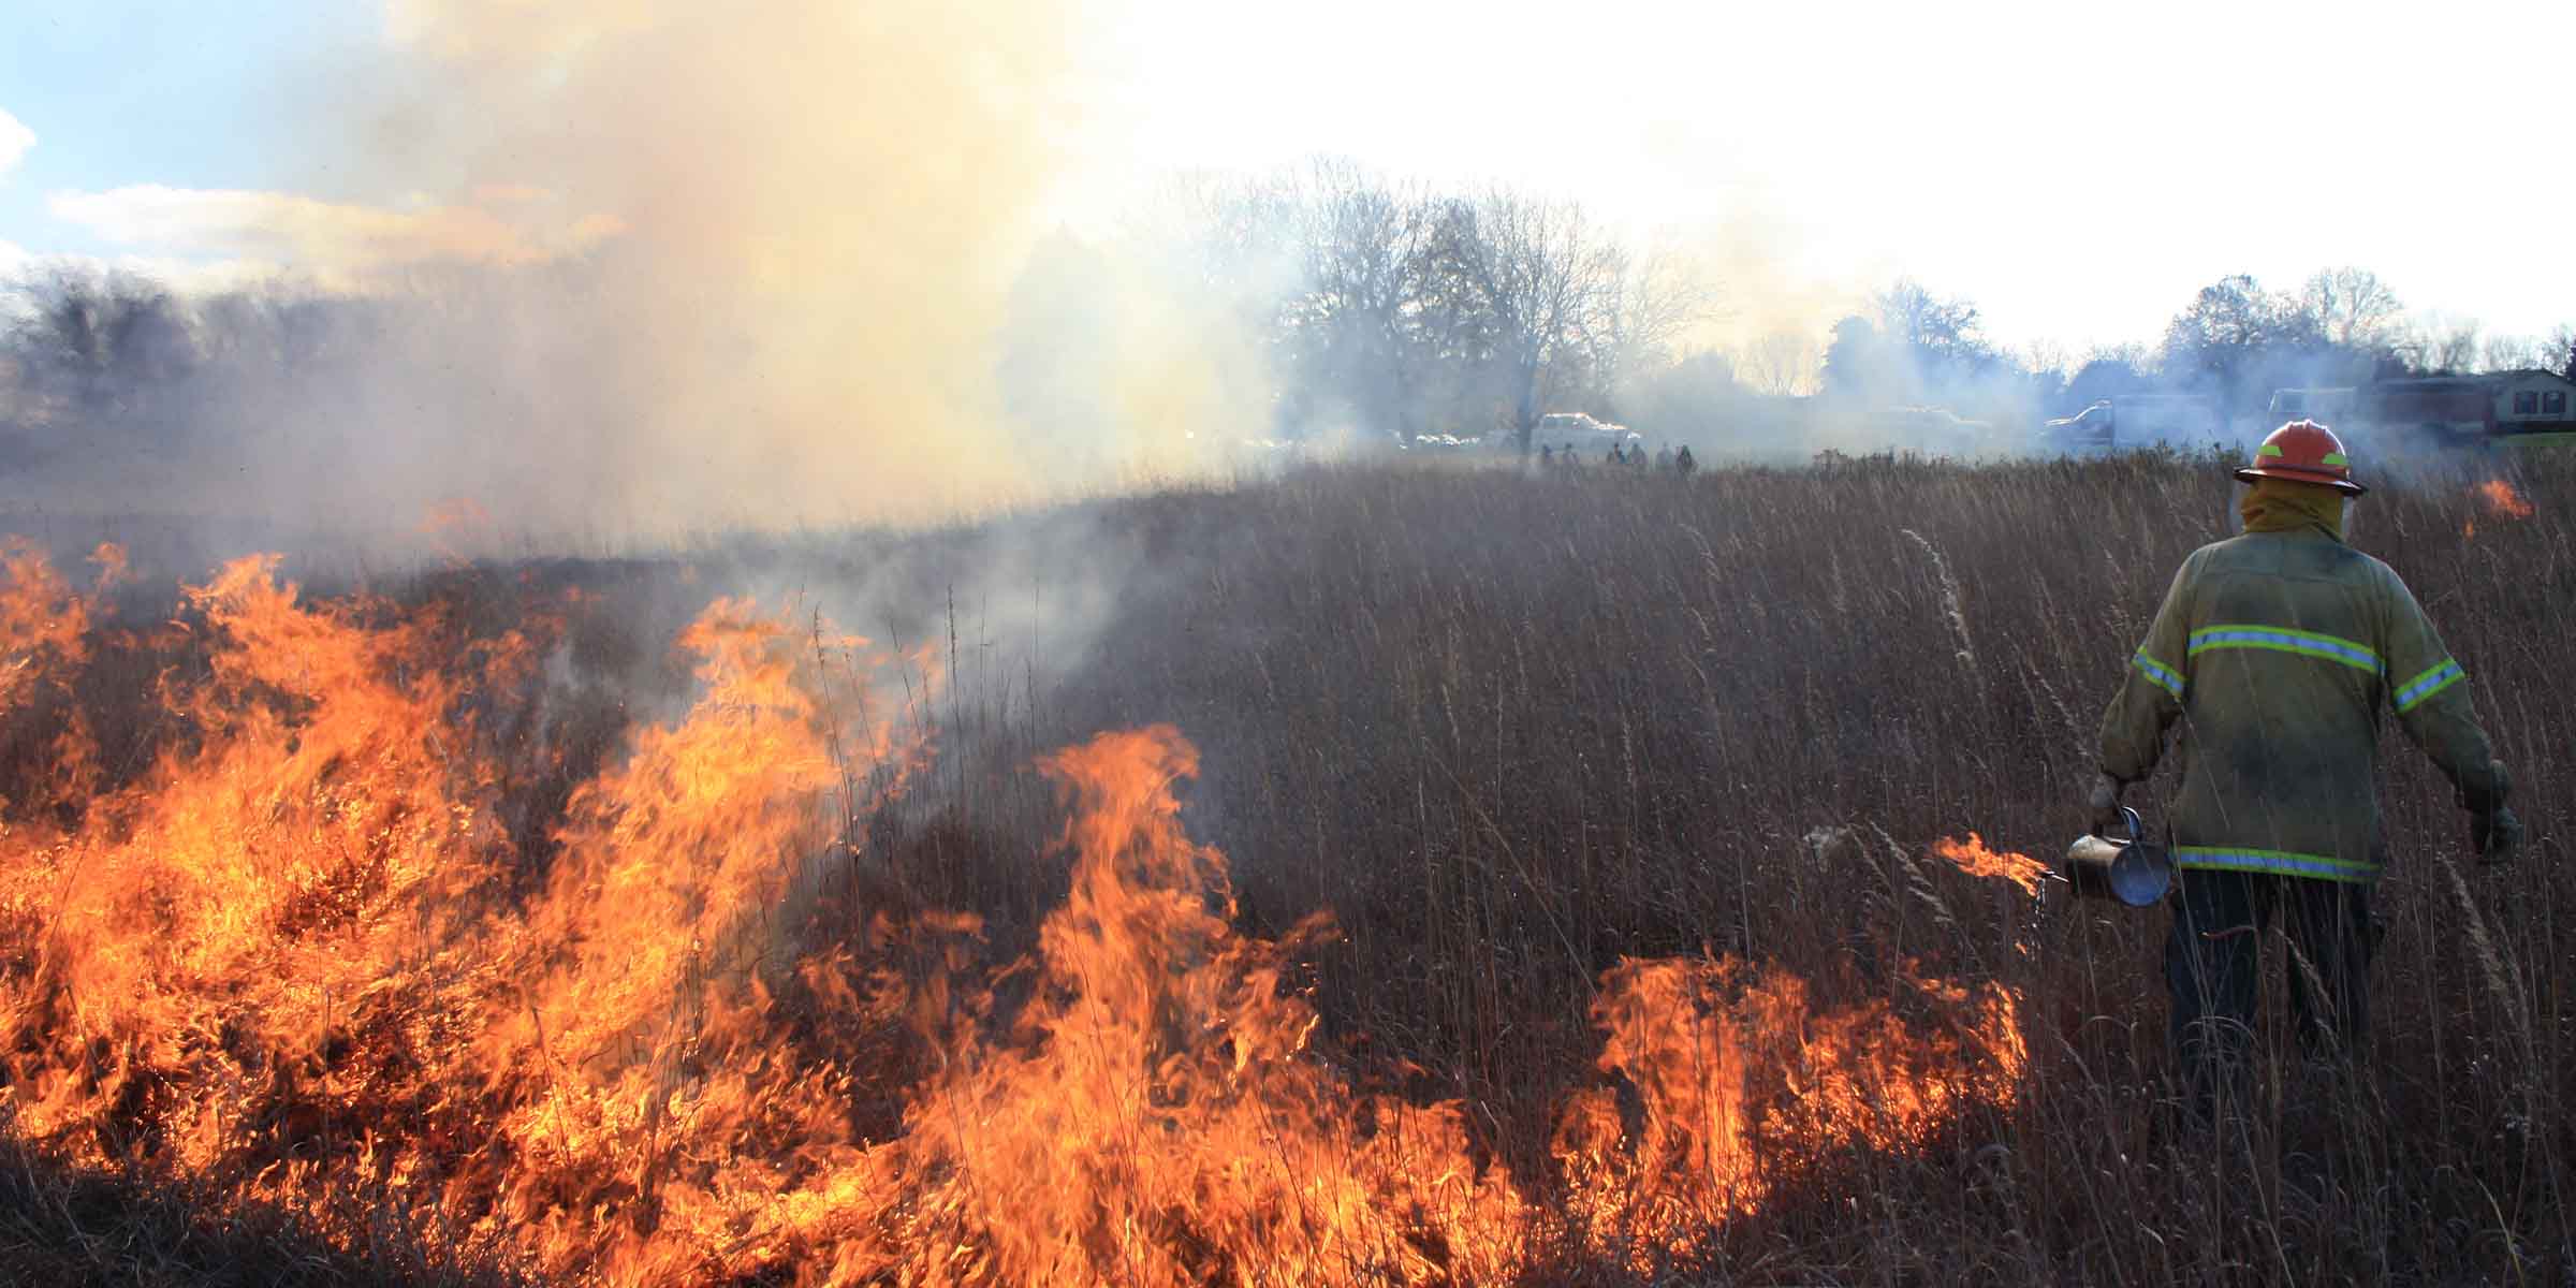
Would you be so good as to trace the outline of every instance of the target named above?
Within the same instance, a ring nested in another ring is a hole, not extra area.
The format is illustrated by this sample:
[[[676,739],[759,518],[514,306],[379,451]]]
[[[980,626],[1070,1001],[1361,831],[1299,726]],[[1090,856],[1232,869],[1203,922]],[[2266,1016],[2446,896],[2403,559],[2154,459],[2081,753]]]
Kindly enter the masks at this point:
[[[1795,451],[1765,435],[1893,407],[2017,428],[2141,392],[2210,394],[2251,415],[2282,386],[2576,371],[2576,325],[2488,337],[2476,322],[2409,314],[2367,268],[2326,268],[2298,291],[2226,276],[2154,343],[2092,353],[2004,348],[1973,301],[1914,281],[1816,332],[1692,348],[1700,322],[1728,309],[1726,283],[1625,245],[1571,201],[1314,165],[1203,191],[1190,214],[1182,240],[1260,335],[1288,438],[1530,443],[1538,415],[1579,410],[1649,438]]]

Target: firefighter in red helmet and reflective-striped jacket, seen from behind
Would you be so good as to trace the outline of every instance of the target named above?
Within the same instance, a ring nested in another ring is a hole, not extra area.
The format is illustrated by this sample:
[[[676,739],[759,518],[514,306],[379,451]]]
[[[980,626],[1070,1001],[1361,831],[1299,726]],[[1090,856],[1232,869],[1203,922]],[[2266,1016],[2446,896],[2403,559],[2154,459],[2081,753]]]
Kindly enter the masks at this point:
[[[2257,945],[2275,920],[2308,966],[2290,969],[2303,1051],[2339,1066],[2370,1033],[2383,706],[2450,778],[2481,860],[2504,863],[2522,840],[2460,662],[2406,582],[2344,544],[2344,502],[2365,492],[2344,443],[2293,420],[2236,479],[2249,484],[2244,536],[2192,551],[2174,574],[2102,716],[2087,801],[2094,832],[2117,824],[2120,793],[2156,768],[2182,719],[2164,984],[2202,1121],[2221,1095],[2244,1103],[2251,1090]]]

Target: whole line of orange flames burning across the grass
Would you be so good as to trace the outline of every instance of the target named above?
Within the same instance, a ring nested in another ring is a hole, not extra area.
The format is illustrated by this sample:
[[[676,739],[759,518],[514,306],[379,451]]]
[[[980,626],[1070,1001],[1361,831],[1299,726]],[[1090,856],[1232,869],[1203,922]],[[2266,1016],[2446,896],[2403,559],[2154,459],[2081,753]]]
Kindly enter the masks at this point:
[[[399,1213],[595,1283],[1497,1283],[1551,1247],[1643,1270],[2022,1066],[1994,984],[1909,969],[1837,1010],[1747,961],[1623,961],[1597,1074],[1636,1095],[1569,1072],[1553,1175],[1515,1177],[1466,1105],[1316,1056],[1283,976],[1329,917],[1234,927],[1172,729],[1041,760],[1069,894],[989,971],[971,914],[822,894],[933,744],[920,685],[835,703],[819,657],[863,683],[927,657],[719,600],[680,636],[693,706],[531,814],[567,734],[505,696],[541,688],[549,623],[466,641],[250,559],[188,590],[167,631],[204,665],[157,680],[180,734],[108,783],[70,701],[95,592],[23,544],[0,577],[0,719],[62,716],[0,835],[10,1131],[350,1247]]]

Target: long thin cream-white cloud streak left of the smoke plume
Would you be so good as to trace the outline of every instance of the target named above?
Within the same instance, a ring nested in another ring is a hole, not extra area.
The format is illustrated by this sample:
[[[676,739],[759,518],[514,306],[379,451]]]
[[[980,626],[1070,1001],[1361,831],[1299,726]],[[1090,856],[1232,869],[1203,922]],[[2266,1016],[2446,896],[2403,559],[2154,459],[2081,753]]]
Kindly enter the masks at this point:
[[[618,234],[613,219],[562,222],[551,209],[355,206],[296,193],[165,188],[52,193],[57,219],[118,245],[222,255],[312,273],[368,273],[422,263],[538,263]]]

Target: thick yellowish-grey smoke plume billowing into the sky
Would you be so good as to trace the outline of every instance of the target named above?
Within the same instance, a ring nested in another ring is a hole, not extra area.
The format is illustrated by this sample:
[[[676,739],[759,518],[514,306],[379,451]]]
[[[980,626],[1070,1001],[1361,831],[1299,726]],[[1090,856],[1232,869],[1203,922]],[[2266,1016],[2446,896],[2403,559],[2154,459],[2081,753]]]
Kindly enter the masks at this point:
[[[1247,363],[1203,361],[1239,345],[1188,276],[1103,252],[1020,281],[1077,126],[1069,26],[1038,3],[394,0],[394,64],[317,126],[312,188],[412,206],[57,198],[111,237],[283,260],[299,289],[232,307],[299,322],[263,330],[276,353],[193,353],[206,374],[152,417],[23,399],[13,492],[623,544],[1185,469],[1257,404]],[[1056,337],[1079,363],[1025,361]]]

